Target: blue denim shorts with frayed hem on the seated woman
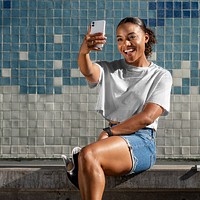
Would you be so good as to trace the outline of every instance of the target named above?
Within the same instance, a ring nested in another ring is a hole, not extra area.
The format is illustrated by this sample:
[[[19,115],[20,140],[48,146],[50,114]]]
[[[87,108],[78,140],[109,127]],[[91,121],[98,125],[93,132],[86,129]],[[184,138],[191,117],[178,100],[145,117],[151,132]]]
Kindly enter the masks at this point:
[[[136,174],[152,167],[156,162],[156,132],[144,128],[131,135],[121,136],[128,144],[133,161],[133,167],[127,174]]]

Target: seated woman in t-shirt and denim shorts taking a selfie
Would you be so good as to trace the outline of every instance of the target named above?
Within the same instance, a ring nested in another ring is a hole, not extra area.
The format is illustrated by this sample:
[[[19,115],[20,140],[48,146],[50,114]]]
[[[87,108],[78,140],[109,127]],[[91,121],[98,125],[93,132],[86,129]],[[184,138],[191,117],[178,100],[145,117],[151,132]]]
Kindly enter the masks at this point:
[[[90,28],[80,47],[78,65],[91,88],[99,87],[96,110],[109,123],[98,141],[75,148],[65,159],[69,179],[82,200],[101,200],[105,177],[140,173],[156,161],[158,119],[170,107],[171,74],[148,61],[153,31],[137,17],[122,19],[116,28],[117,47],[123,59],[92,62],[91,51],[105,44],[102,33]]]

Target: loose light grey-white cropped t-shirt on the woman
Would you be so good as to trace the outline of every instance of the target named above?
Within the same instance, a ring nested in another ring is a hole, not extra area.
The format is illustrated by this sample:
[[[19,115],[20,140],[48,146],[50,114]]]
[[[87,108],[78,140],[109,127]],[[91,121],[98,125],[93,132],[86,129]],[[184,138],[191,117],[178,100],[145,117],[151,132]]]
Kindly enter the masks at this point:
[[[99,83],[89,83],[91,88],[99,85],[96,110],[105,119],[123,122],[141,112],[147,103],[170,110],[172,77],[169,71],[153,62],[149,67],[134,67],[124,59],[112,62],[96,62],[100,67]],[[158,119],[149,128],[157,130]]]

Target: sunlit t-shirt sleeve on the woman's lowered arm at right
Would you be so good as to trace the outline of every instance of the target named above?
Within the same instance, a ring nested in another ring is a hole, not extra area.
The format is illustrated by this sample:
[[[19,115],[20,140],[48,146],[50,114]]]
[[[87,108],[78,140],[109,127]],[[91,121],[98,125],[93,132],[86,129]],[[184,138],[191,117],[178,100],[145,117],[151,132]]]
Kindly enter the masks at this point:
[[[172,87],[172,76],[169,71],[161,76],[153,91],[150,93],[146,103],[156,103],[163,109],[163,116],[168,115],[170,111],[170,96]]]

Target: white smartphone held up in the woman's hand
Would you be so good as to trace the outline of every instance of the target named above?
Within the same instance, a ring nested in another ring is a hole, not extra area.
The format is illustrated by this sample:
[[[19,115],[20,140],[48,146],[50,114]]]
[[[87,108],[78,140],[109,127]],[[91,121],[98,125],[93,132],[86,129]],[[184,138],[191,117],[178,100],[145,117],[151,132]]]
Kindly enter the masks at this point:
[[[106,21],[105,20],[96,20],[91,22],[91,34],[94,33],[103,33],[105,35]],[[98,48],[103,48],[103,44],[97,44]]]

